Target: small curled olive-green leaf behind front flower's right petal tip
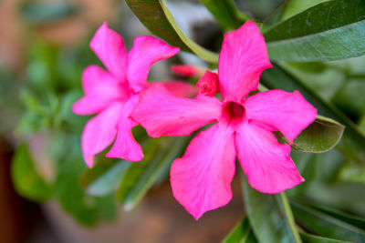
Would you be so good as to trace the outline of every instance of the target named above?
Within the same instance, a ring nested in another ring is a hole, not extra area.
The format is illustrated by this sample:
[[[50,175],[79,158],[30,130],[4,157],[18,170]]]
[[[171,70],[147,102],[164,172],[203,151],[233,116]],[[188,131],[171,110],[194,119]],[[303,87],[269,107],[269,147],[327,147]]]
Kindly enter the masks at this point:
[[[327,152],[339,143],[344,129],[345,127],[330,118],[317,116],[316,120],[294,139],[291,147],[302,152]],[[276,134],[279,139],[286,140],[281,133]]]

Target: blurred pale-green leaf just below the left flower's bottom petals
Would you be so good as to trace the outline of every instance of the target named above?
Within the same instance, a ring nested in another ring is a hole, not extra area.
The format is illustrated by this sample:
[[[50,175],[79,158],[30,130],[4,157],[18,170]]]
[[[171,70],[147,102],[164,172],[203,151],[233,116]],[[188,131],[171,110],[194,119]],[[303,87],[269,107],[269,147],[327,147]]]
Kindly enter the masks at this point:
[[[117,190],[129,161],[101,157],[94,167],[85,171],[81,186],[92,196],[106,196]]]

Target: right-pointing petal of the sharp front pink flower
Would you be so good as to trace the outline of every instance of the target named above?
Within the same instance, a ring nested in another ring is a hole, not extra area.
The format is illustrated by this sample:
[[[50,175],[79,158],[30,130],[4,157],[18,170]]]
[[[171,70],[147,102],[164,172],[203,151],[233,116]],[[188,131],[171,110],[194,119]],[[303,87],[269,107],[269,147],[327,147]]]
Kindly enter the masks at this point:
[[[293,139],[308,127],[317,110],[298,91],[269,90],[245,100],[246,117],[280,131],[287,140]]]

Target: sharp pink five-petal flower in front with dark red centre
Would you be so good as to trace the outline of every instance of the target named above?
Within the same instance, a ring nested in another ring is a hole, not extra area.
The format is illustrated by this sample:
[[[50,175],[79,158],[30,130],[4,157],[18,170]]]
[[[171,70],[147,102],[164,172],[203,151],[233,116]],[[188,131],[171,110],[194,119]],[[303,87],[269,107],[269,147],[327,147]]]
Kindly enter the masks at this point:
[[[297,91],[270,90],[245,98],[268,67],[264,37],[255,23],[246,22],[224,35],[218,63],[223,101],[201,94],[176,97],[158,85],[141,93],[132,117],[151,137],[188,135],[217,122],[172,163],[173,195],[194,218],[231,200],[236,155],[250,185],[261,192],[278,193],[304,181],[290,146],[279,144],[272,132],[292,142],[315,120],[317,110]]]

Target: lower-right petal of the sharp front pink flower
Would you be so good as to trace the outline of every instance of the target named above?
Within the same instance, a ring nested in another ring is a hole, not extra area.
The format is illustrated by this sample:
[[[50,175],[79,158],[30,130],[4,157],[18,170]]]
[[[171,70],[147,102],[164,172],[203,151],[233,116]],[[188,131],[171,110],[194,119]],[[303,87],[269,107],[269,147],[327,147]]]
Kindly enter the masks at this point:
[[[279,193],[304,181],[290,158],[290,146],[279,144],[265,128],[243,123],[235,148],[248,183],[258,191]]]

